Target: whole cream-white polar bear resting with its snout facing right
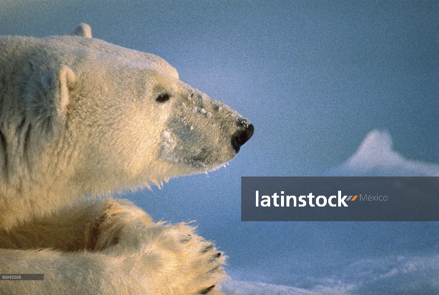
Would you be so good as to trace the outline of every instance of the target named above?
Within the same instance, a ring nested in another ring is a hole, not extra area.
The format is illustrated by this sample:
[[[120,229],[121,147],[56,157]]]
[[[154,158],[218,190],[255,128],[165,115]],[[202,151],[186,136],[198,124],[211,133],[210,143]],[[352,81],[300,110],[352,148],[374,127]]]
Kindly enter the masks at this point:
[[[220,294],[221,252],[109,192],[215,170],[250,121],[165,60],[93,39],[0,37],[1,294]]]

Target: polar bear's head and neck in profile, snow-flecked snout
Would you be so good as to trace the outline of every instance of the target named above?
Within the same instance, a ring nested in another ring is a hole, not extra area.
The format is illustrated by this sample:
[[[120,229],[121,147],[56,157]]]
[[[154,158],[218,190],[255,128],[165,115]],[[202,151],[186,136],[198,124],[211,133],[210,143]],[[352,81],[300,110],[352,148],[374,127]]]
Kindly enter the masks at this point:
[[[0,43],[0,170],[11,185],[103,193],[160,183],[223,166],[253,133],[165,60],[93,39],[87,25]]]

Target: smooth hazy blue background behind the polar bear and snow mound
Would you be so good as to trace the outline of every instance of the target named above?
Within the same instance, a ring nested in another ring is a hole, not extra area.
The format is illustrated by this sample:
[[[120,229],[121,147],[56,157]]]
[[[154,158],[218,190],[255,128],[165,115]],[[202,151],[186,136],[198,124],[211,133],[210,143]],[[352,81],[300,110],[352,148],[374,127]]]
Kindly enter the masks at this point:
[[[240,177],[321,175],[373,130],[404,159],[438,165],[438,2],[0,3],[1,34],[65,34],[82,22],[96,38],[166,59],[255,126],[226,169],[122,196],[156,220],[196,220],[229,256],[232,279],[314,291],[335,280],[366,294],[379,286],[346,269],[437,261],[437,223],[241,222]],[[429,276],[388,277],[383,286]]]

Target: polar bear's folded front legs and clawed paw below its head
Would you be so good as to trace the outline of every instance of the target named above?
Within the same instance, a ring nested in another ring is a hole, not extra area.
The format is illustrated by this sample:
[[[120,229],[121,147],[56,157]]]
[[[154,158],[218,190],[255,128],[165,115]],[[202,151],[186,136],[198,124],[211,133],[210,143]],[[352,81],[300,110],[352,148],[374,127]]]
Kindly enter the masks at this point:
[[[44,273],[22,284],[40,294],[220,294],[224,257],[193,230],[127,201],[81,201],[0,230],[0,273]],[[17,283],[0,294],[25,294]]]

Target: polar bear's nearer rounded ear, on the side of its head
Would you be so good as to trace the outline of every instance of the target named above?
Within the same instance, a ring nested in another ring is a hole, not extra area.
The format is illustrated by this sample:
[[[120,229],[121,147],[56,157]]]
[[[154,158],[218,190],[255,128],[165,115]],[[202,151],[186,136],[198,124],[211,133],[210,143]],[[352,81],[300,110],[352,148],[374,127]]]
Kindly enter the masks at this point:
[[[41,80],[47,88],[48,100],[52,106],[51,115],[65,118],[70,92],[76,84],[75,73],[71,68],[62,64],[50,70]]]

